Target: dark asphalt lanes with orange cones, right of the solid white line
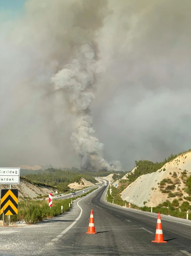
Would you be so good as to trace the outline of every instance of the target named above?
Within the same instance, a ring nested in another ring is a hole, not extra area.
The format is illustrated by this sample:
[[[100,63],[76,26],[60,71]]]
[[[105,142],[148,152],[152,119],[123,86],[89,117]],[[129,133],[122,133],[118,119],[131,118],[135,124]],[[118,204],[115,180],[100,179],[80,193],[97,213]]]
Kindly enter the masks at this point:
[[[79,221],[56,242],[47,255],[165,255],[191,256],[190,226],[162,220],[167,244],[152,243],[157,224],[156,216],[143,215],[112,204],[105,204],[101,197],[105,186],[79,202],[83,209]],[[91,208],[94,211],[96,235],[88,235]],[[143,212],[142,212],[143,213]]]

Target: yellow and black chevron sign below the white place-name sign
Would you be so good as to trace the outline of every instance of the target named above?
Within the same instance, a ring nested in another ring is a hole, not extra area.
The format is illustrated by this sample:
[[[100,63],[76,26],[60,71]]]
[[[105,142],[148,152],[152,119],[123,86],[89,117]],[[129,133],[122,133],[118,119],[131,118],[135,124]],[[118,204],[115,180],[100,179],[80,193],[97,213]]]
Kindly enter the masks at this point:
[[[5,215],[18,214],[18,189],[1,189],[1,211]]]

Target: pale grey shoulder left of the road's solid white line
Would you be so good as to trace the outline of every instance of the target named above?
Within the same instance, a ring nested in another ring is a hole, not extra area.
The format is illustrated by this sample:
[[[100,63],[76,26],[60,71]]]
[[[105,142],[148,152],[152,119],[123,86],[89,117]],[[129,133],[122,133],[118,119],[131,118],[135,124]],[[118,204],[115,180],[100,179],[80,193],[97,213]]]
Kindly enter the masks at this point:
[[[58,217],[43,220],[24,227],[0,227],[0,245],[2,255],[43,255],[48,246],[54,247],[54,239],[70,226],[80,214],[77,206],[79,199],[72,203],[72,208]]]

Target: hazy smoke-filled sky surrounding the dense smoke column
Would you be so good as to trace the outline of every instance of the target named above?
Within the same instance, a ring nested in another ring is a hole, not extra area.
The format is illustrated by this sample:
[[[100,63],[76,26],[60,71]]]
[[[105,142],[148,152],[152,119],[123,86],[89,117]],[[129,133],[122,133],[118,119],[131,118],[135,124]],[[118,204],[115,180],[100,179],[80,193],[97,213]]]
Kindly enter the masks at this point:
[[[0,0],[2,167],[79,166],[75,116],[67,95],[51,87],[83,41],[78,26],[96,31],[91,111],[104,158],[131,170],[134,160],[191,148],[191,2],[108,0],[97,9],[93,2]]]

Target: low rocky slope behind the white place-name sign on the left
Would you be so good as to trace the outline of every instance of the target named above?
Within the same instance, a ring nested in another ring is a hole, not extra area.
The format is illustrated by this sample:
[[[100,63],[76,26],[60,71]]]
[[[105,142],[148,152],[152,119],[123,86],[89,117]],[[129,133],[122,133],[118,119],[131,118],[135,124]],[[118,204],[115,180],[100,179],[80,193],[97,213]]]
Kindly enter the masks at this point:
[[[33,183],[35,184],[35,183]],[[37,197],[39,195],[47,195],[49,193],[56,192],[56,189],[49,186],[41,186],[41,185],[33,185],[32,183],[28,182],[25,178],[20,178],[19,185],[11,185],[12,189],[18,189],[19,193],[18,196],[20,199],[22,197]],[[8,189],[8,185],[0,185],[0,189]]]

